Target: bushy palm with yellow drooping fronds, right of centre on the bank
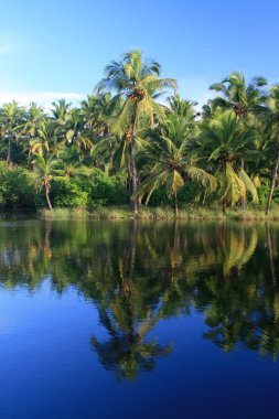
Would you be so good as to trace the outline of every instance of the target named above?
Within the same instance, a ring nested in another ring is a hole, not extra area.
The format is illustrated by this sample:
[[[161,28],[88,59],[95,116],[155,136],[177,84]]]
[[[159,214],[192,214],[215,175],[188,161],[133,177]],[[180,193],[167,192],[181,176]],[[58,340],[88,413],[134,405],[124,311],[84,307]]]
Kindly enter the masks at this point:
[[[255,129],[245,128],[237,115],[227,110],[203,126],[200,155],[213,164],[215,176],[221,184],[221,203],[223,211],[230,203],[235,205],[246,198],[249,192],[253,201],[258,202],[255,184],[244,168],[242,160],[258,159]]]

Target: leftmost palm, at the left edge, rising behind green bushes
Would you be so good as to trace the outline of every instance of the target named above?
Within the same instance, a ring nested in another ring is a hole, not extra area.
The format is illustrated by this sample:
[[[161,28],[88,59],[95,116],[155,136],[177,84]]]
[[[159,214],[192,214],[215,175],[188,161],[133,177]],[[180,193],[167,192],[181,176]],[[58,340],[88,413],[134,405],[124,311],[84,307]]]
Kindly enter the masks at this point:
[[[8,141],[7,163],[11,163],[12,143],[18,139],[20,126],[23,123],[25,111],[17,101],[4,104],[0,112],[0,127],[3,140]]]

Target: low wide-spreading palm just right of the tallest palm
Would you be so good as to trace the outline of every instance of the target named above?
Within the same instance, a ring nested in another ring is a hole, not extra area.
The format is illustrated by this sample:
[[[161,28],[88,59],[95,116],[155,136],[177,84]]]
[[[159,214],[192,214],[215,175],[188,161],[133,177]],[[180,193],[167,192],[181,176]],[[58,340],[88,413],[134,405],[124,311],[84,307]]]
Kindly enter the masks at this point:
[[[192,142],[193,131],[189,122],[175,115],[168,118],[162,129],[151,130],[140,152],[146,160],[144,171],[149,174],[133,193],[133,198],[146,196],[148,203],[152,193],[164,186],[168,195],[174,197],[174,214],[178,216],[178,191],[186,181],[201,183],[213,191],[216,180],[191,158]]]

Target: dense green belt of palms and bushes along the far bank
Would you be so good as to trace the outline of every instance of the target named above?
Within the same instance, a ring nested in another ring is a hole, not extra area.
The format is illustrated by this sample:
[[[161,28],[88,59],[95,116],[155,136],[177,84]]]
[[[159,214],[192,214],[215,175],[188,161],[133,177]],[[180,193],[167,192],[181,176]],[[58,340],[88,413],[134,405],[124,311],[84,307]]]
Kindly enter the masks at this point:
[[[197,112],[160,73],[135,50],[78,107],[3,105],[1,207],[171,204],[178,215],[178,202],[225,212],[250,201],[268,213],[279,200],[279,85],[234,72]]]

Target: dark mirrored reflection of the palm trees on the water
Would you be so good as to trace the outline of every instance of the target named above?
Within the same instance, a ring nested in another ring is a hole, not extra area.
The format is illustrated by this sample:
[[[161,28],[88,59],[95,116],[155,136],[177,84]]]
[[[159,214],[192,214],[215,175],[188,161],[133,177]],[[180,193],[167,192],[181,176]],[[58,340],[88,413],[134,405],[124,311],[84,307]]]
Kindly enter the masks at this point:
[[[278,227],[139,222],[0,225],[0,281],[35,292],[75,287],[94,302],[106,339],[90,337],[104,367],[133,379],[171,353],[150,331],[203,313],[203,337],[276,359],[279,352]]]

